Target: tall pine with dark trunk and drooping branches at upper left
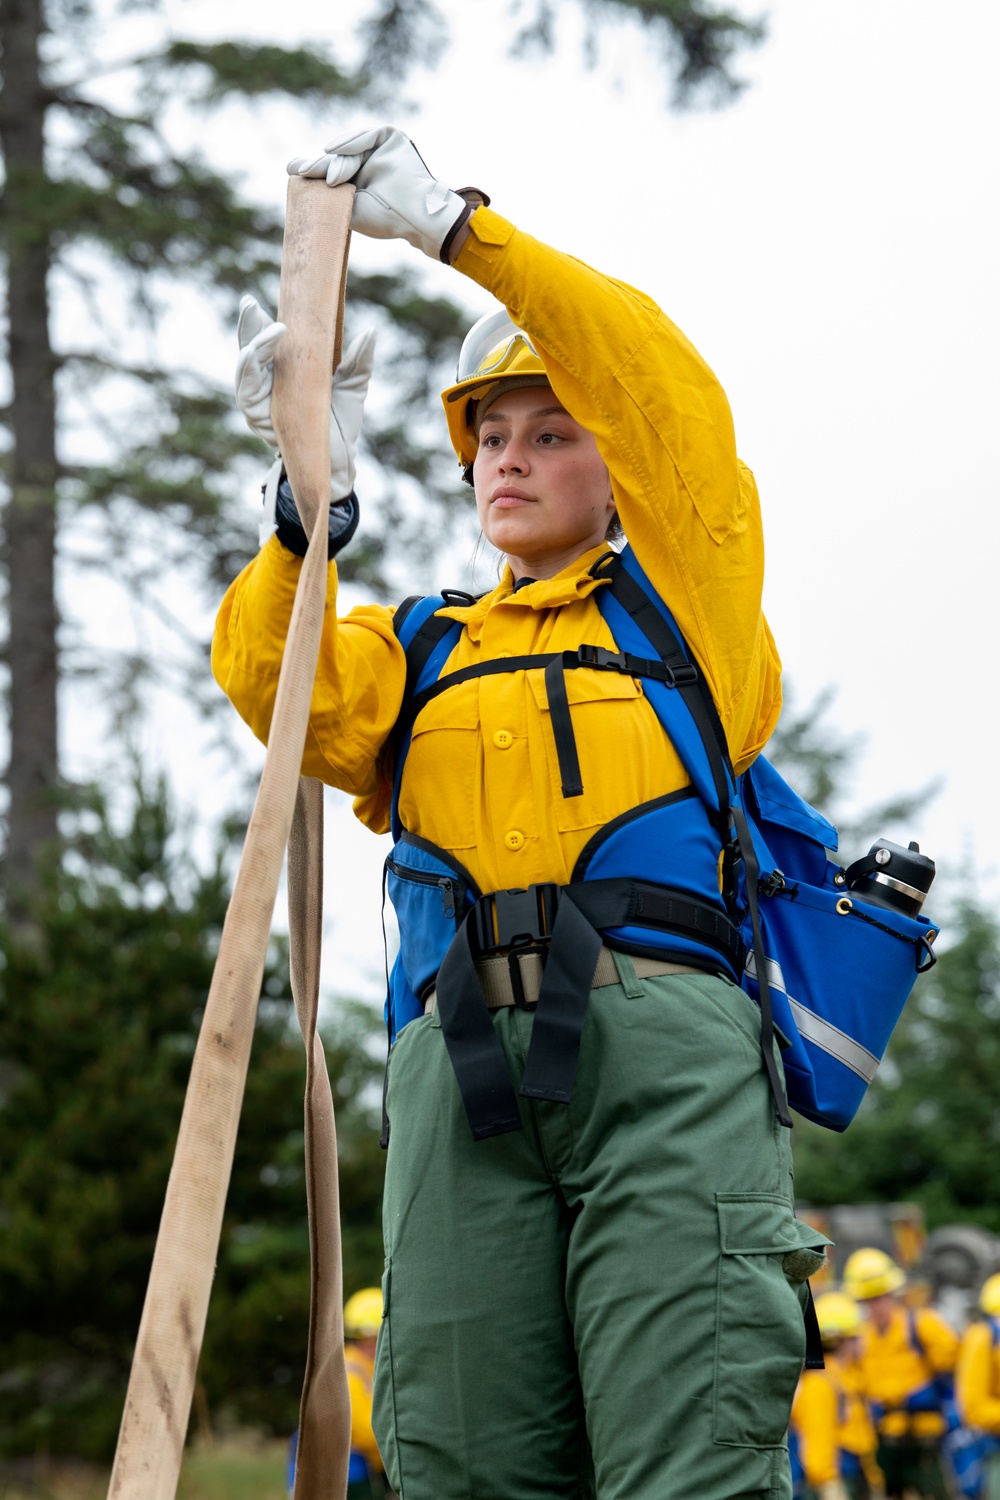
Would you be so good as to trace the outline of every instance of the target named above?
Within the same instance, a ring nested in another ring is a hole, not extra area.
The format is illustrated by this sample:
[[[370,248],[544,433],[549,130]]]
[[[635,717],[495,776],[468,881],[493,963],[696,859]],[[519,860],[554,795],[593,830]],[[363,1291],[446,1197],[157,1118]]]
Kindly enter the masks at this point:
[[[120,14],[130,9],[123,3]],[[159,6],[151,0],[142,10],[154,20]],[[541,0],[528,26],[543,45],[552,45],[553,10]],[[664,38],[685,98],[712,81],[732,92],[730,58],[760,34],[702,0],[604,0],[591,14],[595,24],[603,15],[637,15]],[[169,598],[159,590],[165,572],[190,570],[193,558],[217,594],[253,546],[232,502],[232,472],[240,458],[259,460],[261,446],[240,430],[228,392],[142,357],[135,332],[156,324],[159,303],[178,285],[210,294],[229,316],[247,288],[274,304],[280,216],[243,198],[199,150],[172,144],[171,122],[178,106],[208,116],[234,99],[294,99],[313,114],[322,105],[327,117],[337,106],[343,116],[360,102],[384,100],[387,82],[429,62],[441,27],[429,0],[376,0],[363,27],[364,58],[354,69],[324,46],[166,34],[111,66],[114,24],[106,27],[93,0],[0,0],[10,372],[6,891],[15,918],[58,840],[58,684],[60,672],[79,664],[60,650],[55,612],[57,540],[66,520],[99,516],[99,562],[114,558],[115,578],[130,580],[145,608],[166,616]],[[52,345],[57,285],[94,324],[79,346]],[[366,525],[343,568],[345,579],[379,591],[390,550],[418,560],[426,538],[442,531],[441,507],[460,504],[451,465],[442,468],[424,441],[423,418],[465,318],[451,302],[427,298],[412,272],[358,276],[349,300],[358,318],[375,316],[391,334],[381,364],[393,386],[393,417],[366,428],[381,494],[366,496]],[[70,454],[61,434],[73,420],[100,436],[97,458],[93,442],[85,458]],[[436,506],[436,524],[414,520],[402,498],[409,482]],[[189,634],[183,612],[169,626],[178,642]],[[204,642],[190,645],[204,681]],[[105,696],[117,690],[129,706],[148,670],[127,654],[111,663],[84,656],[82,664],[102,674]]]

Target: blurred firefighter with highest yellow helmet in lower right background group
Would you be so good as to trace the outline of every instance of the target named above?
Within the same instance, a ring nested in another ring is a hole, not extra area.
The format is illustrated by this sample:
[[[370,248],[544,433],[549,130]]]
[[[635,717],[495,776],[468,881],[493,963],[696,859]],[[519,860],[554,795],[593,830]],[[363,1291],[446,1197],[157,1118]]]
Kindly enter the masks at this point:
[[[942,1462],[958,1335],[933,1308],[904,1306],[906,1274],[883,1250],[856,1250],[844,1292],[861,1304],[858,1364],[877,1431],[886,1494],[948,1500]]]

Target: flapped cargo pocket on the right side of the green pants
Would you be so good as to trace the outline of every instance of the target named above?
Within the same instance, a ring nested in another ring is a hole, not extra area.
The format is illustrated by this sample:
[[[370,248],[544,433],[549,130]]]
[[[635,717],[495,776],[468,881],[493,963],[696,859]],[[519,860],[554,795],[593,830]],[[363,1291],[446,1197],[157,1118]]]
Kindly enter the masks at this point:
[[[799,1252],[819,1256],[829,1240],[801,1224],[778,1194],[717,1192],[715,1203],[715,1442],[778,1448],[805,1359],[801,1280],[787,1274],[784,1262],[798,1274],[799,1260],[808,1260]]]

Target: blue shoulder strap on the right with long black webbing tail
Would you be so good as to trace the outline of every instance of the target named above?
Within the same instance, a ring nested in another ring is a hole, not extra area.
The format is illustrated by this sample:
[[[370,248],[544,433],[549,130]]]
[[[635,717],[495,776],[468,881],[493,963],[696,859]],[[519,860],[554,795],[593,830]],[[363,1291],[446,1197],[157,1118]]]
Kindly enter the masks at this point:
[[[606,560],[600,560],[595,576],[610,578],[610,588],[598,592],[597,603],[618,645],[642,651],[652,646],[667,666],[675,666],[676,687],[670,688],[663,682],[649,682],[646,694],[670,742],[681,756],[691,777],[691,784],[702,796],[709,813],[715,818],[723,850],[727,855],[723,864],[723,891],[727,898],[733,894],[733,872],[727,870],[726,864],[733,862],[736,850],[742,856],[754,952],[763,954],[763,930],[757,904],[760,867],[754,852],[750,824],[739,802],[726,732],[705,675],[691,662],[673,615],[652,588],[631,548],[625,548],[618,555],[609,554]],[[676,672],[681,663],[690,668],[687,676]],[[736,825],[735,842],[730,840],[733,824]],[[760,1052],[778,1110],[778,1119],[790,1130],[792,1116],[789,1114],[789,1102],[774,1056],[774,1012],[771,982],[766,970],[766,963],[757,964]]]

